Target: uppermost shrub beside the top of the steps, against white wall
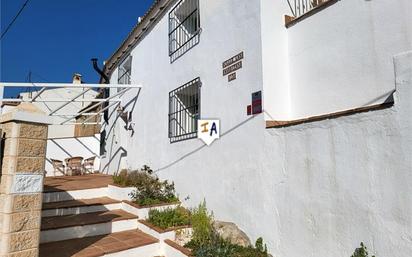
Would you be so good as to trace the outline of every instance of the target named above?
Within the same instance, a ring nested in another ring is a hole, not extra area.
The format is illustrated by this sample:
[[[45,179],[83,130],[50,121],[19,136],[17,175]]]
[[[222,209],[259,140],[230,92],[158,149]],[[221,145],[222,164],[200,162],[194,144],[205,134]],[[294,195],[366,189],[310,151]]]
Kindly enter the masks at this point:
[[[145,206],[179,201],[175,195],[174,183],[169,183],[167,180],[160,181],[153,174],[153,170],[146,165],[141,170],[122,170],[119,174],[113,176],[113,181],[120,186],[135,187],[136,189],[130,196],[139,205]]]

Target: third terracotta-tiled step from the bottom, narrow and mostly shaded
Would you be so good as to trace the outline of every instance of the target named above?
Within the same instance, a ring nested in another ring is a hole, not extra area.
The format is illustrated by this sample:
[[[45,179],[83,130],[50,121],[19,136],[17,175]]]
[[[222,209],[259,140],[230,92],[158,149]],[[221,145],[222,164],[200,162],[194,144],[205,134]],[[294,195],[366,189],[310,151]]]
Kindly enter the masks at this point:
[[[121,209],[121,201],[108,197],[50,202],[43,204],[42,217],[64,216],[81,213]]]

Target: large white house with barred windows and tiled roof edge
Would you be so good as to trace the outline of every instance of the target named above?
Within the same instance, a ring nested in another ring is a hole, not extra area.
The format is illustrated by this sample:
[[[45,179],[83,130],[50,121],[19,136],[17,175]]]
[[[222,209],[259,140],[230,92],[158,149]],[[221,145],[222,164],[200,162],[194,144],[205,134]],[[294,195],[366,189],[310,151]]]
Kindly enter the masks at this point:
[[[406,257],[411,132],[392,109],[356,113],[394,104],[411,1],[298,2],[155,1],[105,65],[111,83],[143,88],[102,127],[102,172],[147,164],[274,256],[350,256],[365,241]],[[210,147],[199,118],[220,120]]]

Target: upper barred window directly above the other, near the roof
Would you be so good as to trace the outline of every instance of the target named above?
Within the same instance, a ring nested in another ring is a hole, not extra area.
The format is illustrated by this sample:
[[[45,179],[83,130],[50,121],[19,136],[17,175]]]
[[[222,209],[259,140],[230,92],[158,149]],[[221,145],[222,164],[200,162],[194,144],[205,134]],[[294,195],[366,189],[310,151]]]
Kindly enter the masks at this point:
[[[169,13],[169,55],[173,62],[199,43],[199,0],[182,0]]]

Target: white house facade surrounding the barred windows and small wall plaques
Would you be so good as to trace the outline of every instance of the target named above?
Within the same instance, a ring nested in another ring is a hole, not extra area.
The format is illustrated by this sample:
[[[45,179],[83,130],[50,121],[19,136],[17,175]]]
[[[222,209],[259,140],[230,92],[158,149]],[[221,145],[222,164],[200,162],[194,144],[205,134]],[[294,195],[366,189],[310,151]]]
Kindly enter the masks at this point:
[[[123,129],[122,121],[114,125],[118,130],[113,130],[112,125],[107,128],[110,133],[107,156],[102,163],[104,172],[113,173],[121,168],[121,153],[127,152],[128,167],[140,168],[156,160],[163,160],[166,165],[168,160],[192,149],[193,144],[200,145],[196,140],[170,144],[168,138],[169,92],[197,77],[202,81],[202,118],[221,118],[224,130],[248,119],[246,107],[251,104],[251,94],[262,90],[260,4],[246,0],[200,4],[200,43],[180,59],[170,63],[167,16],[132,51],[132,81],[144,87],[133,111],[135,133],[131,137]],[[237,80],[229,83],[227,76],[222,76],[222,62],[241,51],[245,54],[243,69],[237,72]],[[116,76],[114,71],[112,83],[117,81]],[[128,93],[124,102],[132,96]],[[113,121],[114,117],[111,124]],[[121,141],[125,134],[128,136]]]

